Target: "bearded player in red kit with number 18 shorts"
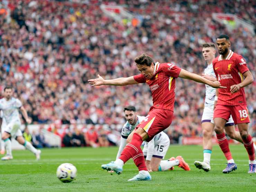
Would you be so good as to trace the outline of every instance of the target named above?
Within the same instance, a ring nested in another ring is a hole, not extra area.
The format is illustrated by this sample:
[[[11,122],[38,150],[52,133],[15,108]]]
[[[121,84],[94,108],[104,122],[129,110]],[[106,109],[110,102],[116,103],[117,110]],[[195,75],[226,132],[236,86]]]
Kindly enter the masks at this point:
[[[230,46],[229,37],[227,35],[220,35],[217,38],[217,47],[220,56],[216,57],[212,62],[217,79],[222,85],[227,87],[225,89],[219,89],[218,101],[213,115],[214,131],[216,132],[219,146],[228,160],[227,167],[222,172],[230,173],[237,169],[237,165],[229,150],[228,140],[223,132],[229,116],[232,115],[249,155],[248,173],[255,173],[255,152],[252,137],[248,134],[248,123],[250,119],[244,91],[245,86],[253,83],[253,76],[246,66],[245,59],[230,50]]]

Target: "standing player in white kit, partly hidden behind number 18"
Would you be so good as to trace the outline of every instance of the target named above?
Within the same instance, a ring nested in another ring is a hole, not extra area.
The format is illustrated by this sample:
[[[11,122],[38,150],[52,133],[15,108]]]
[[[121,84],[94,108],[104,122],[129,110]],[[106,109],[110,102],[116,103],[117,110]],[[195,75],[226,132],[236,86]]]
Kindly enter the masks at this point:
[[[216,76],[213,71],[212,67],[212,61],[215,58],[215,45],[214,43],[204,43],[202,45],[202,54],[204,57],[204,60],[207,62],[208,66],[204,69],[203,77],[216,81]],[[203,169],[204,171],[208,172],[211,170],[210,166],[210,159],[211,159],[211,153],[212,153],[212,132],[214,128],[213,124],[213,109],[214,109],[214,103],[216,104],[216,101],[218,99],[216,89],[210,87],[209,85],[205,85],[206,91],[205,91],[205,101],[204,101],[204,110],[202,115],[202,129],[203,129],[203,162],[195,161],[194,165],[198,169]],[[215,102],[214,102],[215,100]],[[228,122],[225,125],[225,131],[228,134],[228,136],[232,139],[237,140],[238,142],[243,143],[243,140],[239,134],[238,131],[235,131],[234,121],[232,119],[232,116],[230,116]],[[255,150],[254,145],[254,150]]]

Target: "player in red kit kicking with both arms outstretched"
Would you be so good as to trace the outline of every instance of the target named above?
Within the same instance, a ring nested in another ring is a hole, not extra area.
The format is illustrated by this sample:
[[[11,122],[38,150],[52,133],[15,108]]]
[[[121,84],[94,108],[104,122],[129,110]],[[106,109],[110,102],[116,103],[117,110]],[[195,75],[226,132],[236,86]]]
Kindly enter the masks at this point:
[[[131,157],[139,169],[139,174],[128,181],[151,180],[144,161],[144,155],[140,148],[141,143],[146,140],[149,142],[152,138],[166,129],[172,123],[174,107],[174,89],[175,79],[178,77],[191,79],[199,83],[208,84],[214,88],[224,88],[219,81],[210,81],[199,75],[190,73],[171,63],[155,63],[153,59],[142,54],[135,58],[135,63],[141,74],[131,77],[121,77],[117,79],[105,80],[100,75],[97,79],[89,79],[92,86],[99,85],[131,85],[138,83],[147,83],[152,92],[153,106],[150,108],[145,119],[137,125],[131,142],[126,145],[119,159],[109,164],[103,164],[101,167],[106,170],[113,170],[120,174],[122,166]]]

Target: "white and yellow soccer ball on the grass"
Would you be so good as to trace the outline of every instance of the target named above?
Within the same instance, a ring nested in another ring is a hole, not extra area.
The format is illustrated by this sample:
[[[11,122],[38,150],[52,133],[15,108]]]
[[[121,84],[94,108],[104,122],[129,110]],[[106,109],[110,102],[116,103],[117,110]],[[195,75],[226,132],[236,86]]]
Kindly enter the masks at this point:
[[[63,183],[69,183],[76,178],[76,167],[70,163],[63,163],[57,168],[57,177]]]

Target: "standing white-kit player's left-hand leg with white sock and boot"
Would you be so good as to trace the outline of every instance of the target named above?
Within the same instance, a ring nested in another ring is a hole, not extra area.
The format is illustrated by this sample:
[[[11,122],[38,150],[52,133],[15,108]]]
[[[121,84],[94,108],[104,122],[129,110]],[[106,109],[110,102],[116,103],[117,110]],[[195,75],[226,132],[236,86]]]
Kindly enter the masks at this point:
[[[213,114],[212,114],[213,115]],[[211,120],[210,120],[211,121]],[[212,153],[212,132],[214,124],[211,122],[204,121],[202,122],[203,129],[203,162],[195,161],[194,165],[198,169],[203,169],[208,172],[211,170],[210,160]]]

